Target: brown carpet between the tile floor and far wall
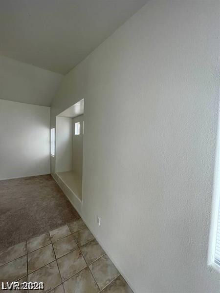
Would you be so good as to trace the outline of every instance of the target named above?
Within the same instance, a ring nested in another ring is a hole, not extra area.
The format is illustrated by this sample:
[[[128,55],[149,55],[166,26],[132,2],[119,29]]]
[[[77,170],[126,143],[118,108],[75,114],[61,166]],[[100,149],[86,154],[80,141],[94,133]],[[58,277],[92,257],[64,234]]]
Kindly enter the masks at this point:
[[[0,251],[77,218],[51,175],[0,181]]]

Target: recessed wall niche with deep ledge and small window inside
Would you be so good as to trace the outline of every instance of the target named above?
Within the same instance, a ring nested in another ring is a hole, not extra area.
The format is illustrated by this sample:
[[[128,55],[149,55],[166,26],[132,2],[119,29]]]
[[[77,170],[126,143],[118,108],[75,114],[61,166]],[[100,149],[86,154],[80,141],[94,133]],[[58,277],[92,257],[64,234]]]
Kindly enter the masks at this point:
[[[56,116],[56,174],[82,202],[84,100]]]

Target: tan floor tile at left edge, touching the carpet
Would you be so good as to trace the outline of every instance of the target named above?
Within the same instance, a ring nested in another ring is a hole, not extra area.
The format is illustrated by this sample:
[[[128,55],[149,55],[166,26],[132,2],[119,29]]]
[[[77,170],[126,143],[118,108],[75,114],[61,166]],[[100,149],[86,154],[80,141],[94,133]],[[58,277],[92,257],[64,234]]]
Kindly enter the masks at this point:
[[[0,252],[0,266],[21,257],[26,253],[26,242],[9,247],[8,249]]]

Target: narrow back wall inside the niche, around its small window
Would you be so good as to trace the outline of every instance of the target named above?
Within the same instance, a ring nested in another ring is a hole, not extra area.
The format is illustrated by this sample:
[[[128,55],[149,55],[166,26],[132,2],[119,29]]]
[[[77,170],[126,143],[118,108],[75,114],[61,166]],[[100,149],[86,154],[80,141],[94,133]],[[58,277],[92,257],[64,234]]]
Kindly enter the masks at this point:
[[[80,134],[74,135],[75,123],[80,123]],[[79,176],[83,176],[83,115],[72,119],[72,169]]]

